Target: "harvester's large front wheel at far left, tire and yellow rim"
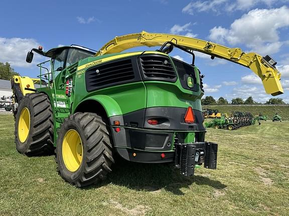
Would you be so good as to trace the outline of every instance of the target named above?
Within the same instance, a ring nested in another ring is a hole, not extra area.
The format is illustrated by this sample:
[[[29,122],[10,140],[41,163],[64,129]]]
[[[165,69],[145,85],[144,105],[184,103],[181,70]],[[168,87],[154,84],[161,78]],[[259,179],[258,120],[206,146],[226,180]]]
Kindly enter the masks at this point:
[[[15,143],[18,152],[27,156],[53,153],[53,113],[46,94],[27,94],[19,104]]]

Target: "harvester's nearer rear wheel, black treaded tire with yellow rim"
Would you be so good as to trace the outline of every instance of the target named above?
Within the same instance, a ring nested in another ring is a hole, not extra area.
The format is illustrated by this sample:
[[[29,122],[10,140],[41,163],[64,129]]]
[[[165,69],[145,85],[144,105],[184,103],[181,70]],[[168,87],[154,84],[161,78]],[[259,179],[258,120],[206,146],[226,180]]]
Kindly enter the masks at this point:
[[[59,174],[76,186],[88,186],[106,177],[114,162],[105,120],[89,112],[67,117],[59,131],[56,161]]]

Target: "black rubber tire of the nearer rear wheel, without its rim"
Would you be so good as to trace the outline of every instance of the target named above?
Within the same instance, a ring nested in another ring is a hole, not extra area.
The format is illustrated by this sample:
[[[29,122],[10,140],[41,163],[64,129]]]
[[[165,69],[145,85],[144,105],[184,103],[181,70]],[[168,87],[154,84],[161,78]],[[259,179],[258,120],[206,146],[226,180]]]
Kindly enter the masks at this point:
[[[82,163],[84,164],[80,166],[82,171],[76,179],[66,179],[63,175],[64,170],[60,169],[61,166],[59,164],[58,173],[66,181],[79,187],[95,184],[105,178],[106,174],[111,171],[112,163],[114,163],[108,125],[103,117],[90,112],[70,114],[64,120],[64,124],[67,121],[75,121],[83,131],[83,137],[86,139],[84,141],[86,143],[86,152],[82,158]],[[60,129],[60,132],[62,132],[62,129]],[[56,152],[60,153],[60,149],[56,150]],[[59,163],[60,158],[57,154],[56,156],[57,163]]]

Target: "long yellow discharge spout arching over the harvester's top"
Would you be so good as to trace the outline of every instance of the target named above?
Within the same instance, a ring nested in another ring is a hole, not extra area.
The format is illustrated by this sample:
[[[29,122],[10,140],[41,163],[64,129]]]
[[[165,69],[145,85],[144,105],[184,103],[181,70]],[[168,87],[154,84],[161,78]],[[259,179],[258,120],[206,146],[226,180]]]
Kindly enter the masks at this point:
[[[136,46],[161,46],[165,42],[171,41],[189,50],[195,50],[223,58],[234,63],[249,67],[262,80],[266,93],[273,96],[283,93],[280,83],[280,72],[270,65],[263,57],[254,52],[243,52],[240,48],[229,48],[217,43],[197,38],[166,33],[140,33],[117,36],[102,46],[95,56],[116,53]]]

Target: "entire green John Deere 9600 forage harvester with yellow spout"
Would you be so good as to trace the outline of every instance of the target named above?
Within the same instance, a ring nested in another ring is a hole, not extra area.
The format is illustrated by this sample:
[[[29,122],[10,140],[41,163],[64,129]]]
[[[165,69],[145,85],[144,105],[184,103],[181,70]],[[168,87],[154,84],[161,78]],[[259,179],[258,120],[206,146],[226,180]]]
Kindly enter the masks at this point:
[[[161,47],[121,52],[135,46]],[[190,53],[192,64],[169,56],[174,47]],[[33,48],[27,61],[36,52],[50,58],[52,69],[38,64],[38,88],[35,79],[13,77],[17,150],[31,156],[56,148],[60,175],[77,186],[105,178],[115,154],[174,162],[184,175],[193,175],[195,164],[215,169],[217,144],[205,141],[203,76],[193,51],[249,67],[267,93],[283,92],[269,56],[185,36],[142,31],[115,37],[97,52],[73,45]]]

